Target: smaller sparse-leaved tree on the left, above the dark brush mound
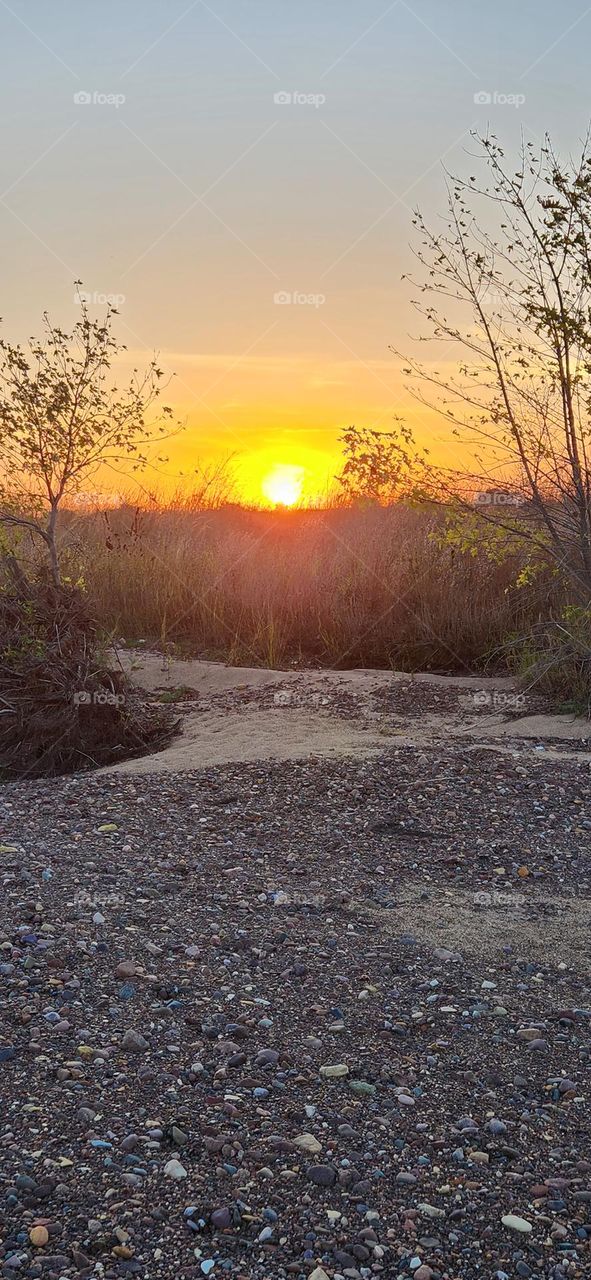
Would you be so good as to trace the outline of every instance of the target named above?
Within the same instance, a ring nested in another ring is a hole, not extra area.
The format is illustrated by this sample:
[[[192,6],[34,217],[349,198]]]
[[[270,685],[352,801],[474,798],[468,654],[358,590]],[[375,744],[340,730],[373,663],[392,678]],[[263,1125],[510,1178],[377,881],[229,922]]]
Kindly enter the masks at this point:
[[[143,372],[134,369],[120,390],[111,370],[127,348],[113,335],[116,311],[109,306],[104,320],[91,320],[78,298],[82,314],[72,333],[45,314],[43,337],[27,348],[0,339],[0,524],[42,539],[56,586],[64,499],[101,463],[146,466],[145,445],[171,424],[165,406],[148,422],[164,376],[156,360]]]

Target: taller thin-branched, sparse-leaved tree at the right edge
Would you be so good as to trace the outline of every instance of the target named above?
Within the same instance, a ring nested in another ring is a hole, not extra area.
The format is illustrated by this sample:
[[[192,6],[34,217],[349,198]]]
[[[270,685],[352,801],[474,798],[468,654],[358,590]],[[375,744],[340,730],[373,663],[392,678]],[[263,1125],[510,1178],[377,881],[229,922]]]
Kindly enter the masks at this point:
[[[484,180],[448,175],[443,230],[416,216],[417,308],[431,329],[422,340],[443,346],[448,371],[406,358],[406,372],[466,453],[464,471],[431,470],[430,481],[461,516],[503,531],[509,549],[549,563],[588,604],[588,138],[568,164],[548,140],[539,154],[523,143],[516,170],[495,138],[476,141]]]

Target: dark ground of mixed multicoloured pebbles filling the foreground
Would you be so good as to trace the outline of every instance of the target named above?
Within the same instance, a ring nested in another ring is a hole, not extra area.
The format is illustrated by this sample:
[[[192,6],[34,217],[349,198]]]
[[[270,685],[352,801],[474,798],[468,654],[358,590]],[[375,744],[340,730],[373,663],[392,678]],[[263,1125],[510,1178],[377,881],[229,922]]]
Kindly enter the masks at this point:
[[[0,1274],[591,1275],[588,777],[5,786]]]

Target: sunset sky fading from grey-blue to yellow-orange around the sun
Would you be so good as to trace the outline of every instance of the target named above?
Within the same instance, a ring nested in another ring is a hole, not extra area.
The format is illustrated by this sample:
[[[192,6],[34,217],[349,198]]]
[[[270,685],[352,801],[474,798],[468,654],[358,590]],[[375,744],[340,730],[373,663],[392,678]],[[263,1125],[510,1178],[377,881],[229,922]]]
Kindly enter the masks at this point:
[[[119,310],[184,430],[146,484],[230,454],[322,493],[339,433],[404,416],[412,212],[436,224],[471,129],[510,152],[591,118],[586,0],[0,0],[3,332]],[[269,488],[269,485],[267,485]]]

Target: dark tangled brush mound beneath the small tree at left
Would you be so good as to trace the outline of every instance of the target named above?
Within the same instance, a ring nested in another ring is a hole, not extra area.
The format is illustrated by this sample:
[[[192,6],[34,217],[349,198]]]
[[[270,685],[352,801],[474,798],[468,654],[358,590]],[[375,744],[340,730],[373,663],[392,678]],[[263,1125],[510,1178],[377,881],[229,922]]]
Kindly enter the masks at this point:
[[[110,672],[82,591],[0,561],[0,777],[36,777],[154,750],[170,717]]]

